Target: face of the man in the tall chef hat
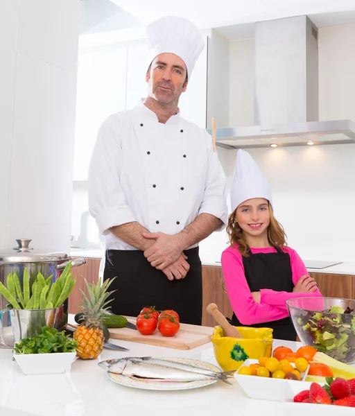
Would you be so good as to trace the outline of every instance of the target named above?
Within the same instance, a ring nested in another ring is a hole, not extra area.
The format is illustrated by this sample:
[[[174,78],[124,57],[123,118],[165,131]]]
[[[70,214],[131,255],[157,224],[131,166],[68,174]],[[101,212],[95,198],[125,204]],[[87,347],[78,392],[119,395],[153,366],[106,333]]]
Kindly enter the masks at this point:
[[[146,73],[148,96],[159,103],[178,102],[187,89],[187,67],[185,62],[173,53],[162,53],[153,60]]]

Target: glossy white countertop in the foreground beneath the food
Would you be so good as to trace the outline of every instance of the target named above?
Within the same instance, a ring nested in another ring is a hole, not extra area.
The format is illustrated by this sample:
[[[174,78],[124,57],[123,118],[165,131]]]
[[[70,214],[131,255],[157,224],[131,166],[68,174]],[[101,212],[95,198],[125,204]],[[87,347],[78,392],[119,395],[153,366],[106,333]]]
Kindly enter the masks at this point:
[[[286,404],[249,399],[235,379],[232,385],[217,382],[202,388],[178,391],[139,390],[110,381],[98,362],[124,356],[195,358],[217,365],[211,343],[182,351],[121,340],[110,340],[130,352],[104,349],[96,360],[77,359],[65,374],[26,376],[12,361],[10,349],[0,349],[0,415],[98,416],[98,415],[300,415],[315,405]],[[300,343],[274,341],[295,351]],[[301,407],[300,407],[301,406]],[[306,406],[306,407],[303,407]],[[318,406],[318,405],[317,405]],[[22,413],[25,412],[25,413]],[[334,415],[340,415],[340,409]],[[307,413],[309,414],[309,413]],[[328,414],[328,413],[327,413]],[[343,414],[343,412],[341,412]],[[322,416],[325,415],[322,413]]]

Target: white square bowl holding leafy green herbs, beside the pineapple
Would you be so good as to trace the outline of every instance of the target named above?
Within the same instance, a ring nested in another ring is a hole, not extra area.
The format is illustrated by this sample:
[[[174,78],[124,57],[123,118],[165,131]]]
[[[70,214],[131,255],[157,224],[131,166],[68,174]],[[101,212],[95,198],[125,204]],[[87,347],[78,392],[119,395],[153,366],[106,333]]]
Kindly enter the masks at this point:
[[[76,360],[76,352],[49,354],[17,354],[14,358],[24,374],[60,374]]]

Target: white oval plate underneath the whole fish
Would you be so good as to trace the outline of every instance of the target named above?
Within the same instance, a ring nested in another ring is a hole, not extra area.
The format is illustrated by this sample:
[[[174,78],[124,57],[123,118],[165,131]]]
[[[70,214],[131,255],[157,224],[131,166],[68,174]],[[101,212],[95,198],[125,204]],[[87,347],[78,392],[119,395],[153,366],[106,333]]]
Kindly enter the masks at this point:
[[[220,372],[220,368],[216,365],[205,363],[205,361],[191,360],[189,358],[162,358],[168,361],[176,361],[177,363],[187,363],[198,365],[201,368],[207,368],[208,370],[213,370]],[[127,387],[132,388],[143,388],[145,390],[188,390],[190,388],[199,388],[204,387],[205,385],[216,383],[218,380],[198,380],[198,381],[152,381],[152,380],[136,380],[131,379],[128,376],[123,376],[123,374],[115,374],[112,372],[107,372],[107,376],[114,383],[126,385]]]

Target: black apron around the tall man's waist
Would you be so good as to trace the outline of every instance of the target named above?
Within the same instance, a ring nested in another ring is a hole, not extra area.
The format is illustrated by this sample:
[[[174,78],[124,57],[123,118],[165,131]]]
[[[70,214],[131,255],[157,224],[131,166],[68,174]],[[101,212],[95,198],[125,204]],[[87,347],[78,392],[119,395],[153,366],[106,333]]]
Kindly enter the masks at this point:
[[[118,315],[137,316],[143,306],[158,311],[173,309],[180,322],[200,325],[202,321],[202,266],[198,247],[185,250],[189,272],[184,279],[168,280],[162,270],[150,266],[140,250],[106,250],[103,279],[116,277],[111,311]],[[110,298],[109,298],[110,299]]]

